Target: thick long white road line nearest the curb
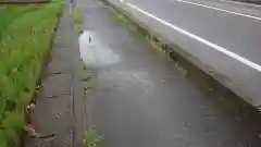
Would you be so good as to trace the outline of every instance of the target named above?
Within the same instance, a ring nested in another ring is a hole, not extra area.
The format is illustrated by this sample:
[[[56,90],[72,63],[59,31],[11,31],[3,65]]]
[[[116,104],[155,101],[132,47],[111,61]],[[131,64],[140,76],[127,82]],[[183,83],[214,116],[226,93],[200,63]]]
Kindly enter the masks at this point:
[[[147,15],[147,16],[149,16],[149,17],[151,17],[151,19],[153,19],[153,20],[156,20],[156,21],[158,21],[158,22],[160,22],[160,23],[162,23],[164,25],[166,25],[166,26],[169,26],[169,27],[171,27],[172,29],[175,29],[176,32],[178,32],[178,33],[181,33],[183,35],[186,35],[186,36],[188,36],[190,38],[194,38],[195,40],[198,40],[198,41],[200,41],[200,42],[202,42],[202,44],[204,44],[204,45],[207,45],[207,46],[209,46],[209,47],[211,47],[211,48],[213,48],[213,49],[215,49],[215,50],[217,50],[217,51],[220,51],[220,52],[222,52],[222,53],[224,53],[224,54],[226,54],[226,56],[228,56],[231,58],[234,58],[235,60],[237,60],[237,61],[239,61],[239,62],[241,62],[241,63],[244,63],[244,64],[246,64],[246,65],[248,65],[248,66],[250,66],[250,68],[252,68],[252,69],[254,69],[257,71],[259,71],[259,72],[261,72],[261,65],[259,65],[259,64],[257,64],[257,63],[254,63],[254,62],[252,62],[252,61],[250,61],[250,60],[248,60],[248,59],[246,59],[246,58],[244,58],[244,57],[241,57],[241,56],[239,56],[237,53],[234,53],[234,52],[232,52],[232,51],[229,51],[229,50],[227,50],[227,49],[225,49],[225,48],[223,48],[223,47],[221,47],[221,46],[219,46],[216,44],[208,41],[208,40],[206,40],[206,39],[203,39],[203,38],[201,38],[201,37],[199,37],[197,35],[194,35],[194,34],[191,34],[191,33],[181,28],[181,27],[177,27],[177,26],[175,26],[175,25],[173,25],[173,24],[171,24],[171,23],[169,23],[169,22],[166,22],[166,21],[164,21],[164,20],[162,20],[160,17],[157,17],[153,14],[150,14],[149,12],[146,12],[146,11],[141,10],[138,7],[136,7],[136,5],[134,5],[134,4],[129,3],[129,2],[127,2],[126,4],[128,7],[130,7],[132,9],[134,9],[134,10],[136,10],[136,11],[138,11],[138,12],[140,12],[140,13],[142,13],[142,14],[145,14],[145,15]]]

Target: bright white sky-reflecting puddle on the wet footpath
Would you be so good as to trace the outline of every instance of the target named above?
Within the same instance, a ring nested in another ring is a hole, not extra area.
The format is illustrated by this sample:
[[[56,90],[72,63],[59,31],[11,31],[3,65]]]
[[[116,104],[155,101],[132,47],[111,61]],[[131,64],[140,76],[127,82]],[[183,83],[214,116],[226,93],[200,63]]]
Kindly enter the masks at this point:
[[[120,57],[99,40],[99,36],[91,32],[84,32],[79,36],[79,51],[84,62],[90,66],[114,64]]]

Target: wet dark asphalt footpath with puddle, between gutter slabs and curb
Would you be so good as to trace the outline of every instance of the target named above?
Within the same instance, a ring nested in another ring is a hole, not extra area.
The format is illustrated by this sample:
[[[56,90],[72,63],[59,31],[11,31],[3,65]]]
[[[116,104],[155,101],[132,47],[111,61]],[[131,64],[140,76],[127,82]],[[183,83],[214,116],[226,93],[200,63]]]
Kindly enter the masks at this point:
[[[251,117],[220,105],[99,1],[83,0],[88,125],[102,147],[259,147]]]

